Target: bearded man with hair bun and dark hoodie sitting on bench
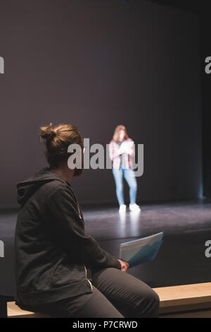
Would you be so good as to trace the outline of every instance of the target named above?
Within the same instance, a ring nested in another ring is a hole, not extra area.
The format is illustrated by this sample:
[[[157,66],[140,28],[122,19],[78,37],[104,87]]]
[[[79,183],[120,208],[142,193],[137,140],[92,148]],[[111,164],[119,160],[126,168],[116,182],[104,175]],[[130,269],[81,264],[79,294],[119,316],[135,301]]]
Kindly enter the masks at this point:
[[[83,167],[69,167],[71,144],[83,138],[76,126],[41,126],[49,167],[17,184],[15,303],[51,317],[158,316],[158,295],[125,273],[129,264],[102,249],[84,232],[84,218],[70,184]]]

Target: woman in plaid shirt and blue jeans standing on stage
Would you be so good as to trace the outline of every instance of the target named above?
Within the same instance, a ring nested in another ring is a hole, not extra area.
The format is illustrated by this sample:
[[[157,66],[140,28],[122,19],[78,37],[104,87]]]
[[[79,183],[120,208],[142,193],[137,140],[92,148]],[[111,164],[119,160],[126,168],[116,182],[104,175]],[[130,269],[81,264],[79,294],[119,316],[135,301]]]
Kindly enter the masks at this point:
[[[137,182],[132,169],[132,156],[134,146],[131,138],[128,137],[126,128],[122,125],[116,127],[113,140],[109,145],[110,159],[113,162],[113,176],[115,179],[117,200],[120,205],[120,212],[126,211],[124,204],[123,177],[129,185],[129,210],[140,211],[136,204]]]

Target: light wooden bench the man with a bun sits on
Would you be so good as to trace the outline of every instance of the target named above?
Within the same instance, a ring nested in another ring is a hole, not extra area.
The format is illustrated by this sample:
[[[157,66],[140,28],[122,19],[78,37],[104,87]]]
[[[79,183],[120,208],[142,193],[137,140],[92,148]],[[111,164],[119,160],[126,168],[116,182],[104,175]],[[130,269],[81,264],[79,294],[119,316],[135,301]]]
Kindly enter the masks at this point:
[[[159,317],[209,317],[211,318],[211,283],[198,283],[154,288],[160,297]],[[44,314],[26,312],[7,304],[8,318],[51,318]]]

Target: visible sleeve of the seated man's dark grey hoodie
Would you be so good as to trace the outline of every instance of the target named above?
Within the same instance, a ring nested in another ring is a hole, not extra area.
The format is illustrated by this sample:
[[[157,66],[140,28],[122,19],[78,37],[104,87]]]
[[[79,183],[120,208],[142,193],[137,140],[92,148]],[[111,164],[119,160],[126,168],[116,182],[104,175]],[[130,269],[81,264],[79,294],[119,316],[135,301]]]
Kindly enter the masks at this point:
[[[113,267],[121,270],[120,261],[103,250],[93,237],[84,234],[84,222],[68,190],[58,189],[54,192],[46,201],[46,210],[51,231],[70,257],[96,268]]]

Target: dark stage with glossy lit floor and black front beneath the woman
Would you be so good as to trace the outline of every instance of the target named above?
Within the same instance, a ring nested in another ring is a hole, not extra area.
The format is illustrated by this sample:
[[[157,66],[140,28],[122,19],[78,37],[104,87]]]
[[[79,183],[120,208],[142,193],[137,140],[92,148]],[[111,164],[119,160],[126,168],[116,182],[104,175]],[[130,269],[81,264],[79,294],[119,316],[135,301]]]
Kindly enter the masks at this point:
[[[87,234],[103,249],[119,256],[120,243],[164,231],[164,242],[154,261],[128,270],[151,287],[211,281],[211,258],[205,242],[211,240],[211,203],[184,201],[146,204],[141,213],[120,215],[117,206],[84,207]],[[0,239],[5,257],[0,259],[0,295],[13,295],[13,236],[17,211],[1,211]]]

